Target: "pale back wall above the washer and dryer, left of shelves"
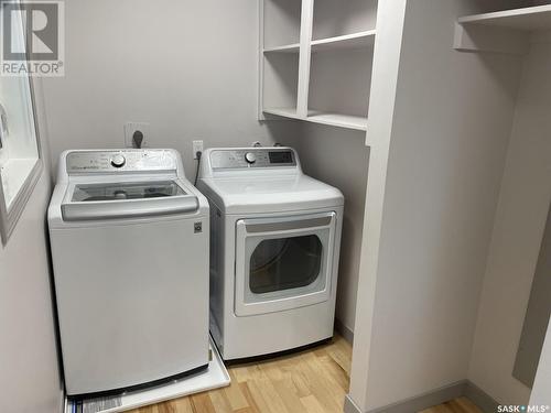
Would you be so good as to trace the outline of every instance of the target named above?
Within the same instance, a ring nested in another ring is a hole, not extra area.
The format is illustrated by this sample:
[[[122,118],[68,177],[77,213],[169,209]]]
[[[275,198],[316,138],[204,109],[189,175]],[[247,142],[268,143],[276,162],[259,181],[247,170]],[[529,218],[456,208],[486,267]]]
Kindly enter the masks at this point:
[[[65,149],[123,145],[127,121],[151,123],[151,146],[184,153],[264,144],[296,129],[257,121],[256,0],[71,0],[63,78],[44,81],[54,165]]]

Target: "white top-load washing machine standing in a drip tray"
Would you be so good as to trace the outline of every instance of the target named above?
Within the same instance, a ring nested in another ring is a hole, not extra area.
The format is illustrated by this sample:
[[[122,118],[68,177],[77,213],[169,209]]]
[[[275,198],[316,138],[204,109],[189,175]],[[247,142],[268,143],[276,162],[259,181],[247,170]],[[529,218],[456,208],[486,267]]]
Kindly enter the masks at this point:
[[[64,152],[48,226],[69,398],[208,365],[208,203],[176,151]]]

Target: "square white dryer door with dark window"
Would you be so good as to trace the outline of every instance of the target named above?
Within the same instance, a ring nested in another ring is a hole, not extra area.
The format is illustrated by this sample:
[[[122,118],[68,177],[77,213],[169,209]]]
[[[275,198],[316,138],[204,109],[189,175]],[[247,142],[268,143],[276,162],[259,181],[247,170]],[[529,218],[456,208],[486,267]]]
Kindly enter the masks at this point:
[[[334,211],[237,221],[235,313],[248,316],[327,301]]]

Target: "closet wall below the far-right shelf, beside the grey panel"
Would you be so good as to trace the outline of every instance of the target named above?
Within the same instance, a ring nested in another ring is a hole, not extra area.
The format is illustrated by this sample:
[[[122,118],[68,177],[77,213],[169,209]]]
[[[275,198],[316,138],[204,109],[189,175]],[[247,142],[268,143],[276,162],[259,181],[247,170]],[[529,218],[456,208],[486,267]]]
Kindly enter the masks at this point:
[[[469,379],[504,404],[525,404],[515,379],[530,289],[551,202],[551,37],[525,59],[480,297]]]

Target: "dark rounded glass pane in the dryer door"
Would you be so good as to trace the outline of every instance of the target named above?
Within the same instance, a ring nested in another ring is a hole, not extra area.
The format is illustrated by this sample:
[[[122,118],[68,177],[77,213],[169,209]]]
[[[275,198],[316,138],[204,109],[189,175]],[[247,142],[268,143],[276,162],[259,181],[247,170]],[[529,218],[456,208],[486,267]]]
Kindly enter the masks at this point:
[[[250,291],[263,294],[310,285],[320,276],[322,256],[315,235],[263,240],[250,257]]]

